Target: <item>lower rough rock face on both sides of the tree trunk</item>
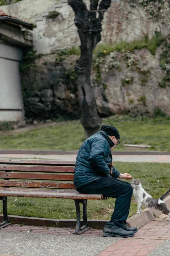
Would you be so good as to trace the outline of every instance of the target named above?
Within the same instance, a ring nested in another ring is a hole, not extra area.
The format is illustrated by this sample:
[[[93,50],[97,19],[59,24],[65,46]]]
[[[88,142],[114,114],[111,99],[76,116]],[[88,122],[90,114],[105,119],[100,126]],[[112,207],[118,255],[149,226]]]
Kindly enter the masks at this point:
[[[126,53],[120,52],[117,55],[119,68],[106,72],[103,71],[105,63],[101,64],[101,80],[98,83],[96,70],[92,69],[92,88],[100,116],[121,113],[152,116],[157,107],[170,115],[169,82],[165,88],[158,86],[165,75],[160,67],[161,53],[162,46],[155,56],[146,48],[135,50],[135,64],[127,67],[129,59]],[[35,60],[31,70],[22,75],[22,85],[26,88],[23,96],[27,118],[81,116],[74,73],[77,58],[72,55],[58,64],[55,54],[41,56]],[[126,79],[129,77],[133,79],[128,84]]]

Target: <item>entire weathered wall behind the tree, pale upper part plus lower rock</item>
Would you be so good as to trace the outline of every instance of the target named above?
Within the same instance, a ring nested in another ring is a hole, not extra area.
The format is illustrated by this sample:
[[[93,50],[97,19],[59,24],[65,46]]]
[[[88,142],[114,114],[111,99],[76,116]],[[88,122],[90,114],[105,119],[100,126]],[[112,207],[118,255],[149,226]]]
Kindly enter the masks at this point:
[[[90,1],[86,1],[88,4]],[[56,50],[79,45],[77,29],[74,25],[74,13],[66,0],[21,2],[0,9],[18,18],[35,22],[33,30],[35,63],[28,71],[22,73],[22,90],[27,118],[52,118],[58,115],[80,117],[78,106],[78,88],[74,76],[74,64],[78,56],[69,56],[62,63],[56,62]],[[56,11],[55,18],[49,14]],[[154,31],[162,35],[169,33],[162,23],[148,19],[146,12],[140,6],[131,8],[128,3],[112,2],[103,20],[102,42],[131,42],[148,34],[151,38]],[[92,87],[97,108],[101,116],[115,113],[132,113],[152,116],[159,107],[170,115],[170,87],[159,87],[164,77],[160,67],[160,54],[163,45],[156,55],[151,55],[146,48],[135,50],[135,58],[139,59],[140,69],[135,65],[127,67],[123,53],[118,53],[119,68],[108,72],[102,71],[101,79],[96,81],[96,70],[92,69]],[[42,54],[44,56],[42,56]],[[107,59],[108,56],[105,56]],[[141,70],[143,69],[143,71]],[[133,80],[122,84],[122,79]]]

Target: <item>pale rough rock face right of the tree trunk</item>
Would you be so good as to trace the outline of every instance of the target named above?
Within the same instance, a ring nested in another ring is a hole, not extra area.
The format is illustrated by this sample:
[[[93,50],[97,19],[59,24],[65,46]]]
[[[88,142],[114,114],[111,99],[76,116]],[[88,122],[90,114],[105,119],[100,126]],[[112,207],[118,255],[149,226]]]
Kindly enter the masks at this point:
[[[135,55],[140,56],[143,63],[141,73],[136,66],[126,67],[126,62],[121,58],[120,69],[114,68],[101,73],[101,83],[98,85],[93,80],[93,91],[97,108],[101,116],[120,113],[133,113],[137,115],[152,116],[156,107],[170,115],[170,87],[160,88],[164,71],[159,66],[161,47],[156,56],[151,55],[146,48],[135,50]],[[93,79],[95,74],[92,75]],[[130,84],[122,85],[122,79],[133,77]],[[146,81],[142,83],[142,81]]]

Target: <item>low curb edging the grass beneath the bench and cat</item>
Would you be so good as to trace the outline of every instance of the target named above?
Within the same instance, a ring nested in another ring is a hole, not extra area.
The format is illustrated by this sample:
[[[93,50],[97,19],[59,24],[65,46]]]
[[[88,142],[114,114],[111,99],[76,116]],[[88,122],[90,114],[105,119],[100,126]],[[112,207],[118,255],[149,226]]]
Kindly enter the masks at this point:
[[[168,207],[170,207],[170,196],[164,200]],[[127,226],[137,227],[138,229],[149,223],[155,217],[159,216],[161,212],[154,209],[148,209],[142,211],[140,214],[135,214],[127,219]],[[58,228],[75,228],[76,220],[72,219],[45,219],[45,218],[33,218],[33,217],[22,217],[16,215],[8,215],[9,221],[12,224],[23,224],[30,226],[56,226]],[[3,221],[3,214],[0,214],[0,221]],[[103,229],[105,223],[108,220],[88,220],[89,227],[92,229]],[[81,220],[82,225],[82,220]]]

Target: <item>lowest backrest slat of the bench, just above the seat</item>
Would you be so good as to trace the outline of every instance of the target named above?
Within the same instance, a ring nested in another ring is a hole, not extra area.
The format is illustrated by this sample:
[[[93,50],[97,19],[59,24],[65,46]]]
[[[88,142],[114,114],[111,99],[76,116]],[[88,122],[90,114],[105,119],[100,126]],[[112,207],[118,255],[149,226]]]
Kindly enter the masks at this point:
[[[0,180],[2,187],[27,187],[27,188],[62,188],[75,189],[74,183],[50,182],[50,181],[20,181],[20,180]]]

